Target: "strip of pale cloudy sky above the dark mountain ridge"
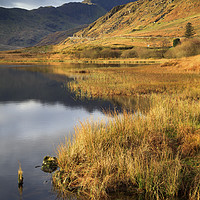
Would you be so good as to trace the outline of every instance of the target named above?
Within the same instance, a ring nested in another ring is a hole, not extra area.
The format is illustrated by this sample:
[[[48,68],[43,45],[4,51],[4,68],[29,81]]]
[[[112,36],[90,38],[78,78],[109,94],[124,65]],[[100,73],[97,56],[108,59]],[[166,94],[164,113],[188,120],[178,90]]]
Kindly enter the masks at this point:
[[[81,2],[82,0],[0,0],[0,7],[24,8],[27,10],[39,8],[40,6],[61,6],[69,2]]]

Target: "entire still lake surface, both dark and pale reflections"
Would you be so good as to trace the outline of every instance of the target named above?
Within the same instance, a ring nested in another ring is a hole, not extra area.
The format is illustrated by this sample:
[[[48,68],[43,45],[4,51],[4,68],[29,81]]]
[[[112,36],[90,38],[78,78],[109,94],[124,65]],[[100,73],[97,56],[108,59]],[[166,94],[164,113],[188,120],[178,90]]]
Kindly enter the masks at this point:
[[[103,118],[103,110],[113,105],[76,99],[63,86],[70,81],[66,76],[13,67],[0,65],[0,199],[56,199],[51,175],[35,166],[44,156],[55,156],[56,146],[73,134],[78,121]],[[24,171],[21,194],[18,161]]]

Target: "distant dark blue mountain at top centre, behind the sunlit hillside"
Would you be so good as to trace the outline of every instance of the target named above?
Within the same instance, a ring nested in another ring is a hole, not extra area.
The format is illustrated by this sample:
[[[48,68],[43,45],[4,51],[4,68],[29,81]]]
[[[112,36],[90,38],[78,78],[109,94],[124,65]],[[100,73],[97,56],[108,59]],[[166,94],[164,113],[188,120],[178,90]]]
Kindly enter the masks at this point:
[[[84,0],[83,3],[99,5],[109,11],[115,6],[127,4],[137,0]]]

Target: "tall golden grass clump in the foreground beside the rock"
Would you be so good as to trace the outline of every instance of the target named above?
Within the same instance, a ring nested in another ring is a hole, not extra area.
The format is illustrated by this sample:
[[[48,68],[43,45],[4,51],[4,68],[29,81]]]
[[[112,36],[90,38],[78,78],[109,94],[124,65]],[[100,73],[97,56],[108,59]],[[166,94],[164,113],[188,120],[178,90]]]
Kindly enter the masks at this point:
[[[114,113],[107,121],[77,126],[73,141],[58,147],[55,186],[91,199],[116,191],[199,199],[199,169],[185,160],[200,153],[200,105],[161,95],[152,95],[151,102],[145,115]],[[187,148],[192,151],[185,154]]]

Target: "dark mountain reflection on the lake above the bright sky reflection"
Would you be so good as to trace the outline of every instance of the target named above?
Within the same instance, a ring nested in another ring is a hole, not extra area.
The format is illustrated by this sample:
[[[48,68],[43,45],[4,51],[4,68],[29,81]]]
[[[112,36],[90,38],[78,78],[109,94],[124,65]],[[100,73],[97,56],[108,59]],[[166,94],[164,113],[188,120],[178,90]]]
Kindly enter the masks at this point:
[[[55,75],[56,76],[56,75]],[[21,71],[11,68],[0,68],[0,102],[20,102],[30,99],[47,104],[61,103],[67,107],[83,107],[89,112],[114,107],[102,100],[75,99],[75,95],[63,87],[55,77],[39,72]],[[70,81],[65,77],[65,83]]]

